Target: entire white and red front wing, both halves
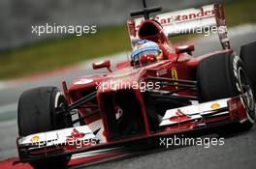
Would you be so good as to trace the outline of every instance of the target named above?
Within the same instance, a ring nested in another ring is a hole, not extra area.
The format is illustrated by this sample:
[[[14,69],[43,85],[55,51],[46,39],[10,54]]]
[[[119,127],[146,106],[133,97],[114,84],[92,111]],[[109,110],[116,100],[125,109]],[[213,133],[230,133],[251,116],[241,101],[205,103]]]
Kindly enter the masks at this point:
[[[125,147],[130,142],[139,142],[152,137],[218,127],[232,122],[243,123],[246,120],[247,114],[242,99],[236,97],[167,110],[159,125],[161,129],[157,132],[117,141],[99,142],[89,127],[81,126],[18,137],[16,144],[19,162],[27,162],[55,155],[75,155]]]

